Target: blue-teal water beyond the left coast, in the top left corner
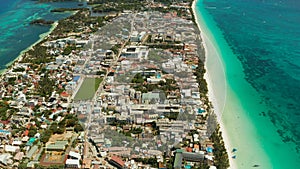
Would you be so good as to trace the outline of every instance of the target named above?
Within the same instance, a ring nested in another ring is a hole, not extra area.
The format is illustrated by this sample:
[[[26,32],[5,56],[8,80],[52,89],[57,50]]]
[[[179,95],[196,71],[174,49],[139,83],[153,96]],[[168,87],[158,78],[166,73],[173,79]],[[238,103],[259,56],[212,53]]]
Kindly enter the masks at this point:
[[[22,50],[39,40],[39,36],[50,29],[50,26],[30,25],[30,21],[37,18],[57,21],[70,13],[51,13],[51,9],[77,5],[77,2],[0,0],[0,70],[5,69]]]

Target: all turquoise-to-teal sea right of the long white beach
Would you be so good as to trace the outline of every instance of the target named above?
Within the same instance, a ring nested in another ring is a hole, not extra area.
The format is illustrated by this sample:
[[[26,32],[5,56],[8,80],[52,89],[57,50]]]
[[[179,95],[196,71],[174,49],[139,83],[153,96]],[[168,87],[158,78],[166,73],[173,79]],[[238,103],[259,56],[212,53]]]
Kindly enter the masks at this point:
[[[200,0],[196,6],[220,50],[232,50],[221,58],[227,83],[272,168],[300,168],[300,1]]]

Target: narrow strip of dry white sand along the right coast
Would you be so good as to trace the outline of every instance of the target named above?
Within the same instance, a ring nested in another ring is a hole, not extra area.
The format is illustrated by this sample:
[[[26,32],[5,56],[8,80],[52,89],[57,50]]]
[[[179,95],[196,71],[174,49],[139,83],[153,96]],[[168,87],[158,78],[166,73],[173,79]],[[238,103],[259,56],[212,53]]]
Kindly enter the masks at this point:
[[[224,111],[225,105],[223,105],[223,108],[221,110],[220,107],[217,104],[217,99],[216,99],[216,97],[214,95],[214,91],[213,91],[213,87],[212,87],[212,82],[211,82],[210,76],[209,76],[210,73],[208,72],[208,68],[207,68],[207,65],[208,65],[208,61],[207,61],[208,60],[207,59],[207,57],[208,57],[208,45],[207,45],[207,43],[209,41],[209,38],[207,37],[207,35],[205,35],[205,32],[201,28],[201,24],[198,21],[199,17],[198,17],[198,15],[196,13],[196,3],[197,3],[197,1],[198,0],[194,0],[193,1],[193,3],[192,3],[192,10],[193,10],[193,15],[195,17],[195,22],[197,24],[198,29],[200,30],[200,36],[201,36],[202,44],[203,44],[204,51],[205,51],[204,67],[206,69],[206,72],[204,74],[204,79],[207,82],[208,98],[212,102],[212,104],[214,106],[213,109],[215,110],[215,114],[217,115],[217,121],[218,121],[218,123],[220,125],[220,131],[222,132],[222,138],[223,138],[224,145],[225,145],[225,148],[226,148],[226,151],[227,151],[227,154],[228,154],[229,165],[230,165],[229,168],[230,169],[237,169],[236,163],[233,160],[233,158],[231,158],[231,154],[230,154],[232,146],[230,145],[229,137],[228,137],[228,134],[226,132],[225,126],[224,126],[224,124],[221,121],[221,114],[220,114],[220,112]],[[223,67],[223,70],[224,70],[224,67]]]

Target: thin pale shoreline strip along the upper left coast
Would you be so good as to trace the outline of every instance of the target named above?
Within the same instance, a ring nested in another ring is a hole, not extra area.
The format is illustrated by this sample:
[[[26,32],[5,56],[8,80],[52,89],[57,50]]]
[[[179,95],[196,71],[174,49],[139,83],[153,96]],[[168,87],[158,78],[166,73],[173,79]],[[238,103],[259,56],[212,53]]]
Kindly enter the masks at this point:
[[[23,58],[24,58],[24,54],[29,51],[30,49],[32,49],[35,45],[37,45],[38,43],[40,43],[41,41],[43,41],[48,35],[50,35],[53,30],[57,27],[58,25],[58,21],[55,21],[53,24],[51,24],[51,27],[49,29],[49,31],[42,33],[39,35],[39,39],[34,42],[33,44],[31,44],[30,46],[28,46],[26,49],[22,50],[19,55],[12,61],[10,61],[9,63],[7,63],[5,66],[5,69],[0,70],[0,76],[2,74],[4,74],[6,71],[8,71],[10,69],[11,66],[14,66],[16,63],[20,62]]]

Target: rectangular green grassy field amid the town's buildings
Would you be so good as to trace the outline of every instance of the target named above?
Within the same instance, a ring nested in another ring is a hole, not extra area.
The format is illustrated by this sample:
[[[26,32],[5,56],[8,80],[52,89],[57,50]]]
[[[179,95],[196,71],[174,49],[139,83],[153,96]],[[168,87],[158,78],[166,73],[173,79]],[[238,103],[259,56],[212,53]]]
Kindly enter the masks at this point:
[[[75,101],[92,99],[97,91],[102,78],[85,78],[80,89],[76,93]]]

